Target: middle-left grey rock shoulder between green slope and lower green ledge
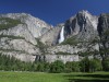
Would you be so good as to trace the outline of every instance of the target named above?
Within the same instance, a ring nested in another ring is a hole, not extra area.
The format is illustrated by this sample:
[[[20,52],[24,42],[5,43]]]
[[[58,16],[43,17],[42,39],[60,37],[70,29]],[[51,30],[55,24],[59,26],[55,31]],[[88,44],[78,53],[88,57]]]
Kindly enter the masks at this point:
[[[35,37],[29,33],[25,24],[19,24],[17,26],[14,26],[12,28],[2,30],[0,31],[0,35],[24,37],[27,42],[37,45]]]

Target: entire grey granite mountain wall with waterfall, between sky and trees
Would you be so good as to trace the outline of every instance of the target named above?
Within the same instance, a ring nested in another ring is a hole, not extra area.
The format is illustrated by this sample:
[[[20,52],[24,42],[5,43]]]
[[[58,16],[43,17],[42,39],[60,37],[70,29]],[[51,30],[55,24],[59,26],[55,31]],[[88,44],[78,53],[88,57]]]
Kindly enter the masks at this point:
[[[78,52],[108,49],[108,34],[109,14],[81,11],[56,27],[26,13],[0,15],[0,52],[23,61],[78,61]]]

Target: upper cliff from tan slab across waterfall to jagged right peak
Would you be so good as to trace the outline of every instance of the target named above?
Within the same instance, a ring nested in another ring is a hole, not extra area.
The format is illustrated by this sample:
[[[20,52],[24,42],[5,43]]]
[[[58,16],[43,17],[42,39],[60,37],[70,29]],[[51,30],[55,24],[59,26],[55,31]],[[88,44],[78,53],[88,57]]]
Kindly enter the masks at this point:
[[[65,23],[59,24],[40,37],[44,44],[60,44],[66,38],[76,37],[78,42],[90,42],[98,38],[98,17],[88,11],[81,11]]]

